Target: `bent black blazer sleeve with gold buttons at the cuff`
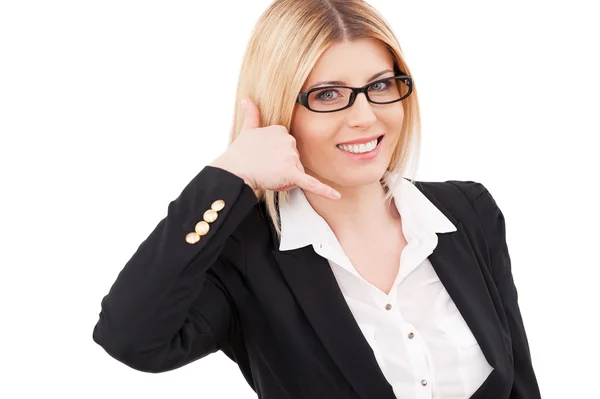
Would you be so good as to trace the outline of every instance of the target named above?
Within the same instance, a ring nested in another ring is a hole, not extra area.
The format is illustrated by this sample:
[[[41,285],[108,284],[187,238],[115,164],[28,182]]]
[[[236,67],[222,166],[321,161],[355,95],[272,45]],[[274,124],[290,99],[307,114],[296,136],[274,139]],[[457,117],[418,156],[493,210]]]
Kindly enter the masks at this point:
[[[217,201],[225,206],[195,244],[185,237]],[[228,345],[239,332],[215,268],[243,268],[233,236],[257,198],[238,176],[206,166],[168,206],[102,299],[93,339],[140,371],[169,371]]]

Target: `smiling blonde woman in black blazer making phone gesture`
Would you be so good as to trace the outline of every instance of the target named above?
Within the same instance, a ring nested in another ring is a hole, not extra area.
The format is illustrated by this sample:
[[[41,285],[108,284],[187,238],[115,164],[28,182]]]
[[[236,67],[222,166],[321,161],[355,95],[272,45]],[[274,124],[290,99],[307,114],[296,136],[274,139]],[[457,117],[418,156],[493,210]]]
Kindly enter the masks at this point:
[[[539,398],[494,199],[403,177],[417,92],[383,18],[275,1],[237,95],[229,148],[125,265],[94,340],[146,372],[221,350],[267,399]]]

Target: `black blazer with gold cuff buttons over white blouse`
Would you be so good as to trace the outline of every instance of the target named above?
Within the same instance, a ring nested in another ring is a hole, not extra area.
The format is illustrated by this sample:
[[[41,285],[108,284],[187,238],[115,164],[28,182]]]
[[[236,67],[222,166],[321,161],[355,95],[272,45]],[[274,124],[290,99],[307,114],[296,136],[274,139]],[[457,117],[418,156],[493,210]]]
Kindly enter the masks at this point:
[[[480,183],[415,184],[457,227],[429,259],[494,369],[472,398],[540,398],[502,212]],[[216,200],[225,207],[189,244]],[[151,373],[221,350],[265,399],[395,398],[327,260],[278,248],[250,186],[206,166],[119,273],[93,339]]]

